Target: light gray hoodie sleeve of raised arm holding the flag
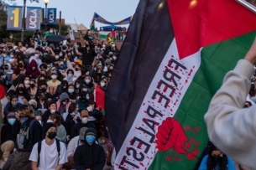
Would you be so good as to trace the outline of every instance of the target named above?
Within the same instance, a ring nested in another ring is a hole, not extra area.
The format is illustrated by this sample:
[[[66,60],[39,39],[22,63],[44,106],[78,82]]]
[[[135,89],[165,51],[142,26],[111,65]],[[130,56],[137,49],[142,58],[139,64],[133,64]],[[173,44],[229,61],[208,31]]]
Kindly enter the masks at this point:
[[[222,152],[255,169],[256,105],[243,109],[253,71],[253,64],[245,59],[238,61],[213,96],[205,121],[210,140]]]

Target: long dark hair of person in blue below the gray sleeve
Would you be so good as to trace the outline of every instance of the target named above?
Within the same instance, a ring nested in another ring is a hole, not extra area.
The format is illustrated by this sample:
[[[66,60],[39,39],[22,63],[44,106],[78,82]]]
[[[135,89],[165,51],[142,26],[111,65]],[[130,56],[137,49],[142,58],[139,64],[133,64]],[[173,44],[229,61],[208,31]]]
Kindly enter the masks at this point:
[[[227,156],[225,154],[219,159],[218,162],[215,161],[215,158],[212,156],[212,151],[217,151],[217,147],[212,144],[210,150],[208,152],[208,159],[207,159],[207,170],[215,169],[215,167],[219,166],[220,170],[227,170]]]

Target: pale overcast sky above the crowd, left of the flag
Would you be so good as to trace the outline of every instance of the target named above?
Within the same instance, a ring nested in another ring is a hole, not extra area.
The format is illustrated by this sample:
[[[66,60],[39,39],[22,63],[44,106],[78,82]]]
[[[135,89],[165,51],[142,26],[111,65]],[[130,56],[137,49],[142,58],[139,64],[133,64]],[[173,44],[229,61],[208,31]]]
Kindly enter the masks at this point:
[[[102,18],[109,22],[118,22],[128,18],[135,13],[139,0],[49,0],[47,8],[57,8],[57,17],[61,11],[61,18],[65,18],[65,23],[83,23],[87,28],[90,27],[93,13],[98,13]],[[23,6],[23,0],[16,0],[18,6]],[[39,3],[30,3],[28,7],[45,8],[44,0]],[[97,28],[102,23],[95,22]],[[127,26],[127,25],[126,25]]]

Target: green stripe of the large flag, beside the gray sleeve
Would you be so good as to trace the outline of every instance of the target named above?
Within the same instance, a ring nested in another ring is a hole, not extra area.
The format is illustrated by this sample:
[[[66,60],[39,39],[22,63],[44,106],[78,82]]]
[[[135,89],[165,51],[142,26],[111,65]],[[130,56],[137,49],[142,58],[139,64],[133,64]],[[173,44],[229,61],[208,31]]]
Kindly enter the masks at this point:
[[[207,111],[208,105],[212,96],[222,85],[222,80],[227,71],[232,70],[238,62],[238,59],[243,59],[250,45],[253,43],[256,31],[247,33],[234,39],[228,39],[218,44],[206,46],[201,51],[201,66],[197,70],[190,87],[185,92],[185,96],[180,103],[178,111],[174,118],[180,121],[183,127],[191,126],[199,127],[200,131],[193,132],[185,131],[187,137],[195,137],[196,142],[200,142],[200,146],[191,145],[192,152],[196,147],[200,153],[197,154],[197,159],[189,161],[186,155],[177,155],[181,157],[180,162],[166,161],[166,157],[175,153],[173,151],[158,152],[154,158],[154,162],[149,167],[149,170],[167,170],[179,169],[190,170],[194,169],[198,158],[201,156],[206,143],[208,142],[206,125],[203,116]]]

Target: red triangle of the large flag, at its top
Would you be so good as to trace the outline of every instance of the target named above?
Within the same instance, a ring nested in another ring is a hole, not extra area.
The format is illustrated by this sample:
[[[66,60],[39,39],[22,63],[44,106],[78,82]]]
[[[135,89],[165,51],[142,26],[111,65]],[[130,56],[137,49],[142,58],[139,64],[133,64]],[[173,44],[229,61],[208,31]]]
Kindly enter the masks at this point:
[[[234,0],[167,1],[180,59],[256,30],[256,14]]]

